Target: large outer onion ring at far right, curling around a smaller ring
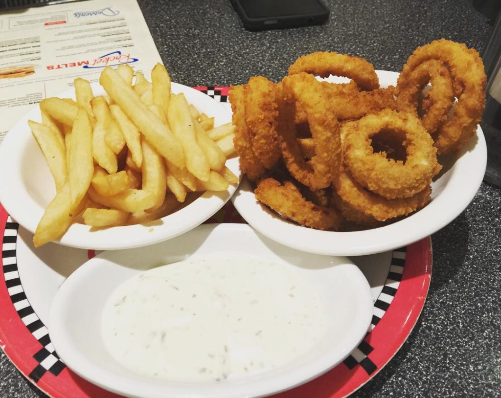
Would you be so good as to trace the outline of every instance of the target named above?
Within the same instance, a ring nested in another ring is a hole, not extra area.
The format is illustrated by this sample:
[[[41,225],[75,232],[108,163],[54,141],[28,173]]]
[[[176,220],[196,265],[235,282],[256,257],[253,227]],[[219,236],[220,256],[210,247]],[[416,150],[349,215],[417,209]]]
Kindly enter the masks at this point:
[[[482,60],[475,50],[441,39],[414,51],[400,73],[399,82],[408,81],[414,69],[430,59],[447,65],[457,97],[451,118],[437,130],[434,137],[438,154],[441,155],[457,149],[475,133],[485,107],[486,77]]]

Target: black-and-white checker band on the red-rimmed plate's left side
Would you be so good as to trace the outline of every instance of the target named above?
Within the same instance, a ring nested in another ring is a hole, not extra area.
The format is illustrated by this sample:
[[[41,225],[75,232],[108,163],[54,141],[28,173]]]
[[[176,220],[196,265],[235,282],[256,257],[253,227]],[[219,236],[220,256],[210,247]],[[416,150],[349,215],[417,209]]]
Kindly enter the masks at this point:
[[[19,224],[9,217],[5,226],[2,245],[3,271],[7,291],[9,292],[14,308],[28,330],[42,344],[42,348],[33,355],[38,365],[29,375],[33,381],[37,382],[47,371],[57,376],[66,365],[59,359],[51,343],[49,330],[35,313],[21,284],[16,258],[18,228]]]

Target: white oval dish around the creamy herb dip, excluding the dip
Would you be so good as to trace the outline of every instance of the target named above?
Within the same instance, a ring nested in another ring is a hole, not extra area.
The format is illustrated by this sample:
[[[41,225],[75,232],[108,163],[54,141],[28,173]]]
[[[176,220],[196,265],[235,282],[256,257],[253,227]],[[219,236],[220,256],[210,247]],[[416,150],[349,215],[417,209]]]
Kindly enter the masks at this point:
[[[122,282],[191,255],[241,253],[294,267],[318,287],[327,313],[325,336],[310,351],[272,371],[231,381],[181,383],[138,375],[107,352],[101,337],[103,306]],[[252,397],[304,383],[341,362],[364,338],[373,312],[370,286],[344,257],[308,254],[279,245],[245,224],[201,225],[153,246],[104,252],[61,285],[50,311],[50,336],[74,372],[110,391],[140,397]]]

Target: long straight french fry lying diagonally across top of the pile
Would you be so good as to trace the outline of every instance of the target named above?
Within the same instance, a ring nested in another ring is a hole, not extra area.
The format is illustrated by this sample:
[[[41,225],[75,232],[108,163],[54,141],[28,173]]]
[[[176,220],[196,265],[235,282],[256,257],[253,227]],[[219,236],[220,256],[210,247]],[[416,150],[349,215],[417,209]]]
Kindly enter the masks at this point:
[[[183,167],[185,154],[179,141],[169,127],[141,102],[134,90],[127,86],[117,72],[106,67],[101,73],[99,82],[160,155],[176,166]]]

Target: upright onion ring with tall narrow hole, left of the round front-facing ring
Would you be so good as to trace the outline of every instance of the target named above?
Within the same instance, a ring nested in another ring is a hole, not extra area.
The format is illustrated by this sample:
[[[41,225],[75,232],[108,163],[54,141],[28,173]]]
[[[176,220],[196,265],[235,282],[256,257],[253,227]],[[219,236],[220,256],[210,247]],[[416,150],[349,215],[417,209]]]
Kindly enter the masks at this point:
[[[339,124],[328,106],[325,90],[313,75],[287,76],[277,85],[278,131],[282,157],[291,175],[312,190],[331,185],[341,166]],[[306,111],[315,156],[305,160],[296,138],[294,109],[299,102]]]

